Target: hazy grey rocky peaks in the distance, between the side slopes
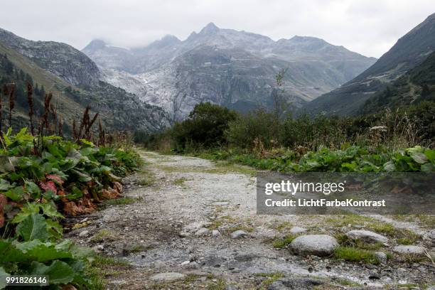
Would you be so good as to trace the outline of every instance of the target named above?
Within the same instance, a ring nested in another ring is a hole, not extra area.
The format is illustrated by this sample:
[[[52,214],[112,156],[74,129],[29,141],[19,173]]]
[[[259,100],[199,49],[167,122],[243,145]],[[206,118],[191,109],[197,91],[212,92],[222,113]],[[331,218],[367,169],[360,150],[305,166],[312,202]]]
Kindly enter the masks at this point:
[[[286,97],[301,107],[375,62],[318,38],[273,41],[213,23],[185,41],[166,36],[131,49],[92,41],[82,51],[99,65],[104,80],[163,107],[174,119],[205,101],[241,110],[267,107],[282,68],[288,68]]]

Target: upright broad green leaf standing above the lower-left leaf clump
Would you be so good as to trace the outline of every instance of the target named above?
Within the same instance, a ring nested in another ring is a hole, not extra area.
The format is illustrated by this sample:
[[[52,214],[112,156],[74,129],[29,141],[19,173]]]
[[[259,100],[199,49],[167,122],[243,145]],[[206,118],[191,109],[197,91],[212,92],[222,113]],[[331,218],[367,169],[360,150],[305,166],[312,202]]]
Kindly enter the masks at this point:
[[[16,226],[16,233],[25,241],[35,239],[47,240],[50,237],[47,231],[47,222],[45,222],[45,218],[38,213],[33,213],[20,222]]]

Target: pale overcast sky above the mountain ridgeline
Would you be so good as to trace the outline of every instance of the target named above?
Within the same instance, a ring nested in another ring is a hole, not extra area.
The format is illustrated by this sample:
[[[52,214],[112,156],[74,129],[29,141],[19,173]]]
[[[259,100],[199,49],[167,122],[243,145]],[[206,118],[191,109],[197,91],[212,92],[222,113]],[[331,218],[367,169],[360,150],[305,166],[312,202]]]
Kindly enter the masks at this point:
[[[269,36],[316,36],[379,58],[435,12],[434,0],[1,0],[0,28],[82,49],[100,38],[142,46],[209,22]]]

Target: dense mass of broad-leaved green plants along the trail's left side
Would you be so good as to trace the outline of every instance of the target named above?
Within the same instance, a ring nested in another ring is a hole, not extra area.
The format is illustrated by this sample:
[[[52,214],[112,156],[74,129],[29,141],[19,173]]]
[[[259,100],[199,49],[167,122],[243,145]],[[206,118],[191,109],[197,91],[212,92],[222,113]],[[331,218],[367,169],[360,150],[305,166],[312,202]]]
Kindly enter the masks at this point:
[[[62,240],[60,222],[119,195],[118,176],[139,166],[139,156],[86,140],[34,137],[26,128],[15,135],[9,129],[0,141],[0,276],[49,276],[51,285],[90,288],[93,251]]]

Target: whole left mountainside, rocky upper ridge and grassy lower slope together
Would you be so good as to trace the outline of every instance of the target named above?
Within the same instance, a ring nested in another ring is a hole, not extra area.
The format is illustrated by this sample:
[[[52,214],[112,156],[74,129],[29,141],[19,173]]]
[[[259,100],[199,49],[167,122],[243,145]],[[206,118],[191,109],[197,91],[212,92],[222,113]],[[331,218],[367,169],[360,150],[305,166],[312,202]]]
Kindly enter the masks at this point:
[[[45,52],[40,54],[42,47]],[[17,51],[15,48],[20,49]],[[64,54],[65,48],[68,48],[67,54]],[[29,53],[32,58],[27,56]],[[26,80],[21,75],[28,75],[34,87],[38,85],[45,92],[53,92],[53,102],[58,104],[58,112],[63,116],[67,133],[73,119],[78,122],[88,104],[93,112],[100,113],[103,124],[111,130],[157,131],[169,124],[168,116],[161,108],[145,104],[136,95],[98,79],[81,81],[81,77],[99,76],[100,70],[90,58],[69,45],[26,41],[7,31],[0,31],[0,55],[7,59],[3,63],[11,63],[9,66],[12,67],[8,70],[0,68],[0,85],[17,83],[16,124],[22,126],[27,122]],[[70,65],[62,68],[62,62]],[[75,85],[77,82],[79,85]],[[35,94],[35,104],[40,112],[42,99],[43,94]]]

